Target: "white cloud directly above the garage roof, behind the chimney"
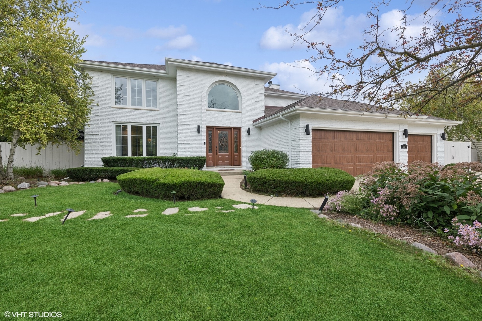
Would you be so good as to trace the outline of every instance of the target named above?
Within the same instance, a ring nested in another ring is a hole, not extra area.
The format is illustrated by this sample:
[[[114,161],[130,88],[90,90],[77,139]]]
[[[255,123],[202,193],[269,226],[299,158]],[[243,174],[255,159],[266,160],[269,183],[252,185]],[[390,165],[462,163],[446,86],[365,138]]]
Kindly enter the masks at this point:
[[[317,79],[313,73],[315,67],[306,60],[293,63],[264,64],[261,70],[278,73],[275,82],[280,84],[282,90],[321,93],[329,90],[326,78]]]

